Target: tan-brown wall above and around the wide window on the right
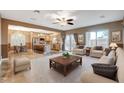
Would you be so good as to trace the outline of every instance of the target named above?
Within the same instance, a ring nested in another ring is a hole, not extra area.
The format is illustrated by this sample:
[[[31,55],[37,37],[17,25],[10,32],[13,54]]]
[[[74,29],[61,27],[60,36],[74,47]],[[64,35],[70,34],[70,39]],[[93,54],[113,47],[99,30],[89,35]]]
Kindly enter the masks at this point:
[[[82,27],[78,29],[73,29],[73,30],[68,30],[66,31],[66,34],[70,33],[86,33],[87,31],[100,31],[107,29],[109,30],[109,42],[111,42],[111,33],[112,31],[121,31],[122,30],[122,20],[121,21],[116,21],[116,22],[110,22],[110,23],[104,23],[104,24],[99,24],[99,25],[94,25],[94,26],[88,26],[88,27]],[[123,38],[123,36],[122,36]],[[120,42],[117,42],[118,44],[123,44],[123,39]]]

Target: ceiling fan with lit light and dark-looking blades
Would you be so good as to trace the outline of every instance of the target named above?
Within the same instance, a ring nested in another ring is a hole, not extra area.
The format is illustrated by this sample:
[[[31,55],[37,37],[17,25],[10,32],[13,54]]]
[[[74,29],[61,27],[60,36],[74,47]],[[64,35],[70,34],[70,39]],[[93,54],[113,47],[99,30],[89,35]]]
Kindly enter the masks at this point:
[[[65,17],[62,17],[62,18],[56,18],[55,19],[55,22],[53,24],[60,24],[61,26],[64,26],[64,25],[74,25],[74,19],[73,18],[65,18]]]

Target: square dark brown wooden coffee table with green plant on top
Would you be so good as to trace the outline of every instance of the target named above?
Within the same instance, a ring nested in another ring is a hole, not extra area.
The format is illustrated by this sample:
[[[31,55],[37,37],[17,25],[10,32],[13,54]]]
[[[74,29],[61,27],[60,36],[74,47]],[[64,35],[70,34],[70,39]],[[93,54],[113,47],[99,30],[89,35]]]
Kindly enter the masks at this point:
[[[82,57],[79,56],[70,56],[68,58],[58,56],[49,59],[49,67],[54,68],[56,71],[64,74],[64,76],[66,76],[78,65],[82,65]]]

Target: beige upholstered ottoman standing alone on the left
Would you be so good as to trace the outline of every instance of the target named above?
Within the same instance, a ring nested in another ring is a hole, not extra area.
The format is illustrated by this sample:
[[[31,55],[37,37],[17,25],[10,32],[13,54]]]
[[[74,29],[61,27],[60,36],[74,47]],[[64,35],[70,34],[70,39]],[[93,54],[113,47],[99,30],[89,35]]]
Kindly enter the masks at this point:
[[[28,58],[18,57],[14,59],[14,74],[26,69],[31,69],[30,60]]]

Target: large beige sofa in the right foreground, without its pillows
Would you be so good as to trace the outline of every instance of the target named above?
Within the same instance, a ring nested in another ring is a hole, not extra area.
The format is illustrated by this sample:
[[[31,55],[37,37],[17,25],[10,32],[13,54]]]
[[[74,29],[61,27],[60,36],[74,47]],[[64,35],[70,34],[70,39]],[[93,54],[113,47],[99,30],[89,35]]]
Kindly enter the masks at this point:
[[[116,65],[118,67],[117,79],[119,83],[124,83],[124,50],[118,48],[116,50],[116,55],[117,55]],[[89,71],[82,72],[81,82],[82,83],[117,83],[117,81],[95,74],[92,69]]]

